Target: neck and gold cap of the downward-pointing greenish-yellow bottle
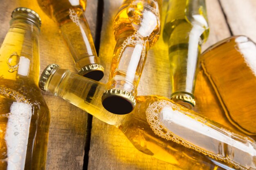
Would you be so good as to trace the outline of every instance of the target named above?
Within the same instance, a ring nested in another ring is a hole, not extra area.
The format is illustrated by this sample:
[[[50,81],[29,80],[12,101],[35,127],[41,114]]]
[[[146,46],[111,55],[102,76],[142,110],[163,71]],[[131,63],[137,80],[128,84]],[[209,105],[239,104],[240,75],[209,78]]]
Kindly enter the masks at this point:
[[[195,106],[193,93],[204,31],[201,26],[184,22],[176,25],[169,40],[173,88],[171,98],[187,108]]]

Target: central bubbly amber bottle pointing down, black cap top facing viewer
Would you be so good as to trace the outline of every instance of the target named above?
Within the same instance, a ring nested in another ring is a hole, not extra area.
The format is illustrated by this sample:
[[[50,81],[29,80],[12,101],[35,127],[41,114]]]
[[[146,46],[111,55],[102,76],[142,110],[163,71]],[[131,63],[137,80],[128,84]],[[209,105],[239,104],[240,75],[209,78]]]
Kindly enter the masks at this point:
[[[159,37],[161,3],[161,0],[124,0],[114,19],[117,44],[102,96],[103,106],[112,113],[127,114],[135,106],[147,51]]]

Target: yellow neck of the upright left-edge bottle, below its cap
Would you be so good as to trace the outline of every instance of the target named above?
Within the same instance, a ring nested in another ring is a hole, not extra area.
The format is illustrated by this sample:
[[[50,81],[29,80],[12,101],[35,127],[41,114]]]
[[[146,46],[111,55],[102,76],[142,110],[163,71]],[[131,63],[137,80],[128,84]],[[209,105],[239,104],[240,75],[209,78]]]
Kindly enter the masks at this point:
[[[38,84],[40,59],[39,22],[28,14],[18,13],[0,48],[0,68],[4,79],[26,79]]]

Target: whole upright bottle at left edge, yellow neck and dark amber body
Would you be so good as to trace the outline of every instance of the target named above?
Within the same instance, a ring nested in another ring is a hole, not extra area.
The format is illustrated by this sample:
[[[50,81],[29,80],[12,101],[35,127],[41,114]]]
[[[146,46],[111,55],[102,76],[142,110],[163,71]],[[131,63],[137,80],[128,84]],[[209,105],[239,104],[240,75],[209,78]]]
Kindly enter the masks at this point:
[[[39,15],[12,13],[0,48],[0,170],[44,170],[49,110],[38,88]]]

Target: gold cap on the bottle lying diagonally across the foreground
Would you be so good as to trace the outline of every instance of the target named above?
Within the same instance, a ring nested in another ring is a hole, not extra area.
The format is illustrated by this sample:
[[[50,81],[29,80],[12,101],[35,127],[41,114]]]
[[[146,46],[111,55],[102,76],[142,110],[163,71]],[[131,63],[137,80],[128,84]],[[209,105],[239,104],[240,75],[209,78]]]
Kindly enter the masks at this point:
[[[39,83],[38,83],[39,88],[41,88],[41,90],[46,91],[45,84],[49,79],[50,75],[52,74],[52,71],[54,71],[55,68],[58,68],[58,67],[59,67],[58,64],[50,64],[45,68],[45,70],[40,76]]]

